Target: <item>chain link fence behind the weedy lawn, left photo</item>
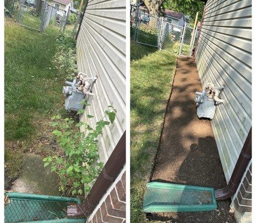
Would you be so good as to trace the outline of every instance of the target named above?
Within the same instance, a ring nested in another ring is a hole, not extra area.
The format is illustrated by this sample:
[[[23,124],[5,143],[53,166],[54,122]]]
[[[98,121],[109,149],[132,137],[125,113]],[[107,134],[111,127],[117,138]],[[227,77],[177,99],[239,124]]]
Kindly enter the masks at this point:
[[[81,12],[74,8],[65,11],[47,0],[4,0],[4,14],[15,18],[21,26],[46,35],[65,32],[74,38],[82,17]]]

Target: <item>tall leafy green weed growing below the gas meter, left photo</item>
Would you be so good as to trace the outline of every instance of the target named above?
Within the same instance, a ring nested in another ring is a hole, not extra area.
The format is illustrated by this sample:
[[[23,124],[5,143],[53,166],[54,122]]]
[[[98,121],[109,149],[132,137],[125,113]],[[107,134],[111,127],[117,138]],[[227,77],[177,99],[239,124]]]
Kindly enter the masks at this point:
[[[98,137],[103,134],[103,129],[115,120],[116,110],[108,106],[104,117],[96,122],[95,128],[89,124],[79,122],[75,127],[84,125],[86,134],[74,129],[74,120],[61,119],[60,115],[52,117],[52,132],[64,151],[62,156],[49,156],[43,159],[44,166],[50,166],[51,172],[56,172],[59,177],[59,189],[65,195],[83,195],[89,193],[91,185],[95,182],[103,169],[103,162],[99,161]],[[84,113],[84,109],[78,114]],[[93,115],[86,115],[93,118]]]

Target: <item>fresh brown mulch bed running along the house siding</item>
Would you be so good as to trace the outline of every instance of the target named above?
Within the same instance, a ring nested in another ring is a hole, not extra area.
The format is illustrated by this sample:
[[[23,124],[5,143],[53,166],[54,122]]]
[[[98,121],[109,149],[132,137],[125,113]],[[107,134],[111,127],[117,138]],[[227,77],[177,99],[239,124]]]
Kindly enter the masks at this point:
[[[201,89],[195,60],[178,59],[152,181],[214,188],[226,186],[210,121],[200,120],[196,115],[194,96],[195,91]],[[158,213],[148,217],[177,223],[233,223],[229,205],[230,200],[219,201],[215,211]]]

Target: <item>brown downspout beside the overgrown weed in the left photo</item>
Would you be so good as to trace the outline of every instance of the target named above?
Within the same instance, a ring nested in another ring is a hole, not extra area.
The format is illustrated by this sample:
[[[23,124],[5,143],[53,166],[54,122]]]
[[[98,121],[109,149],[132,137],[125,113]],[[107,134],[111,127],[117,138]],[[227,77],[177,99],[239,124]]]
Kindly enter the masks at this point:
[[[67,217],[88,217],[117,178],[125,164],[125,132],[110,155],[83,203],[67,206]]]

